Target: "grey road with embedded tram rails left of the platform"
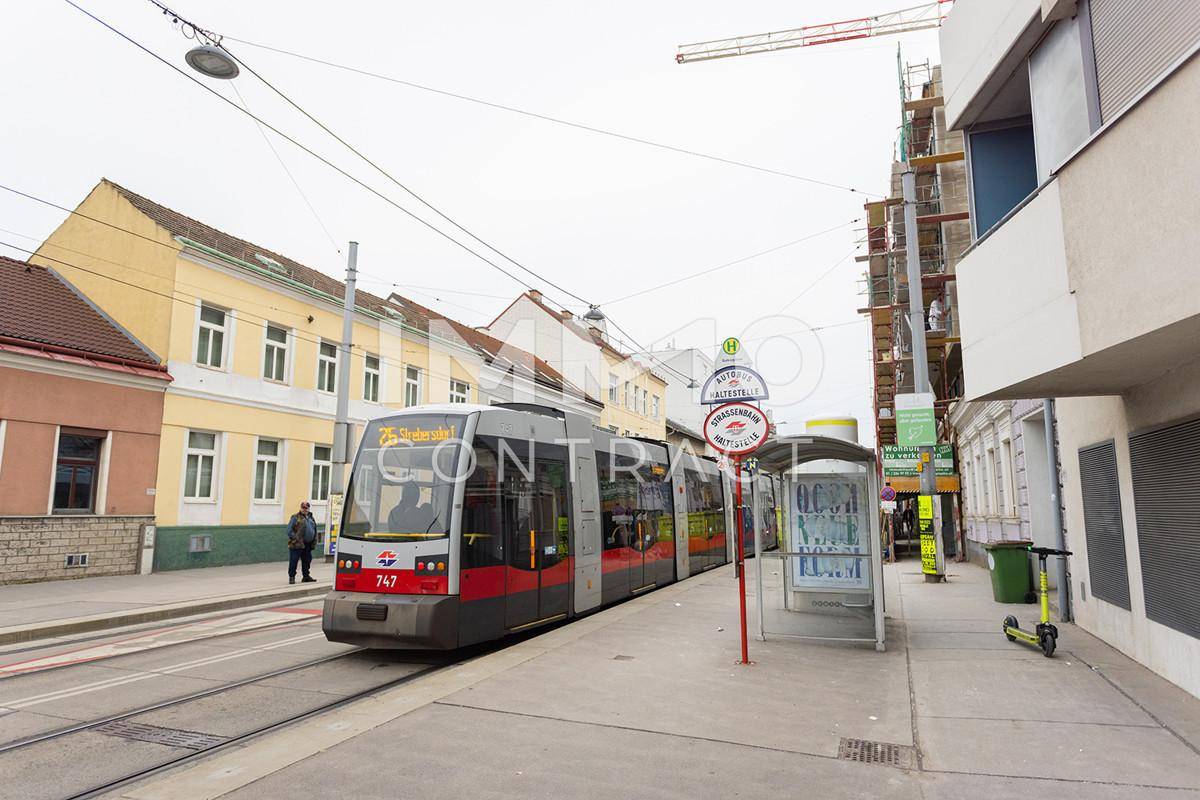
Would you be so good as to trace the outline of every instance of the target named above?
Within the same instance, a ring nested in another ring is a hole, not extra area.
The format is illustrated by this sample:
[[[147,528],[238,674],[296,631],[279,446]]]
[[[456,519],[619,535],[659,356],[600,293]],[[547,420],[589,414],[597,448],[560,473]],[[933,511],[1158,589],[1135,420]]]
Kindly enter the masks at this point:
[[[70,798],[445,662],[326,642],[319,607],[0,652],[0,798]]]

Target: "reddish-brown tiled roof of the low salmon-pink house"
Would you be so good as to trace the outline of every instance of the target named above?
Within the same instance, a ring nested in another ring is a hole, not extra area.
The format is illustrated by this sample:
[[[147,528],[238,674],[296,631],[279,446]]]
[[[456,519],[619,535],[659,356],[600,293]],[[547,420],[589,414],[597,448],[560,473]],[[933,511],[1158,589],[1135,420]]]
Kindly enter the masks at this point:
[[[158,360],[44,266],[0,255],[0,336],[157,367]]]

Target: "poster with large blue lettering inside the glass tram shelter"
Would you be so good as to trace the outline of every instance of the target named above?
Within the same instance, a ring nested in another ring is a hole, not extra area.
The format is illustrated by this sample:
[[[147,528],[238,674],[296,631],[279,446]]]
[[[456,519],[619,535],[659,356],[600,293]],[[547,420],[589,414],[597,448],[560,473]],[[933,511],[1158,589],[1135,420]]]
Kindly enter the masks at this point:
[[[866,475],[806,474],[792,479],[788,549],[796,589],[870,589],[865,559],[821,557],[826,551],[866,554],[870,536]]]

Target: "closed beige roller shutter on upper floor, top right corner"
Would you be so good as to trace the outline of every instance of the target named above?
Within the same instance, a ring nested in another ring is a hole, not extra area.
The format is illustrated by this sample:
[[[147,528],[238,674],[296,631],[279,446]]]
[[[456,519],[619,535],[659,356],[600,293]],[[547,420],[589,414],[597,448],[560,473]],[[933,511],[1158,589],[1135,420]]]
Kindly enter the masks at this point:
[[[1104,122],[1200,42],[1196,6],[1196,0],[1091,0]]]

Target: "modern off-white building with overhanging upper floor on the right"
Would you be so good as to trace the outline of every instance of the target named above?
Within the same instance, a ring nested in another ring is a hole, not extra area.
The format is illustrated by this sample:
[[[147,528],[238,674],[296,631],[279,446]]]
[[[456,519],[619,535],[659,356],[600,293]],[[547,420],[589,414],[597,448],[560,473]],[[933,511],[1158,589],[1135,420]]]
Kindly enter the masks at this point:
[[[1198,48],[1184,0],[958,0],[941,31],[966,397],[1058,398],[1075,620],[1200,696]]]

